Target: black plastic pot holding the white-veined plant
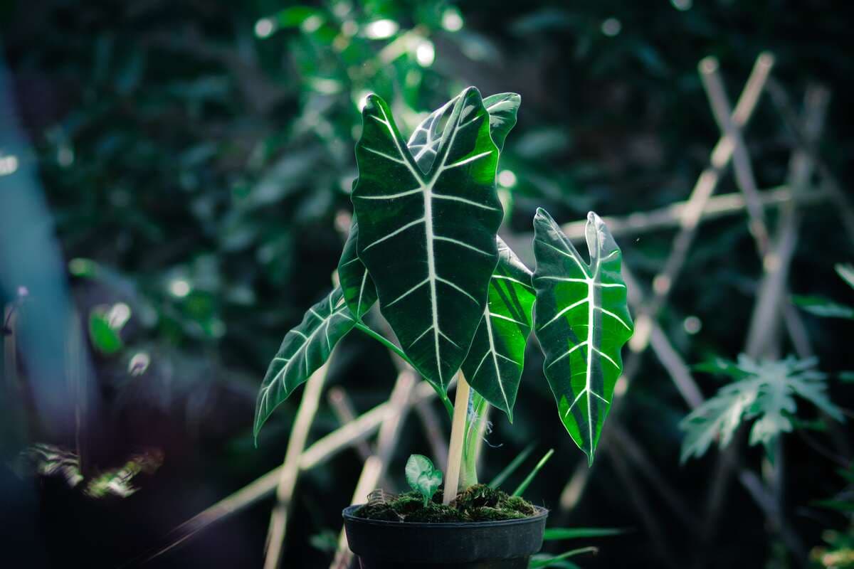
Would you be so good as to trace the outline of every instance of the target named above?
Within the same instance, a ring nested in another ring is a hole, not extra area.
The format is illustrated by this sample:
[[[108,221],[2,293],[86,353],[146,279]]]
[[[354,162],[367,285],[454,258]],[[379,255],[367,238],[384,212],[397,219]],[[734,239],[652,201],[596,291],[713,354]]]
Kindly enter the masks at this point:
[[[527,569],[542,547],[546,508],[524,520],[423,524],[365,520],[345,508],[344,529],[360,569]]]

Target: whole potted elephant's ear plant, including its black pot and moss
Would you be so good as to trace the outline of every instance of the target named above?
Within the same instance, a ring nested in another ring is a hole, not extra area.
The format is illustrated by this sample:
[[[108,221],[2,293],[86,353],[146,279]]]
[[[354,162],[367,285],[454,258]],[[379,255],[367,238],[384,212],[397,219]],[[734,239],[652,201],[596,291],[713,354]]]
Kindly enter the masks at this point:
[[[512,93],[482,99],[469,87],[407,142],[386,103],[367,97],[340,286],[284,337],[260,388],[255,436],[356,328],[411,364],[452,415],[444,476],[426,457],[411,456],[411,494],[379,494],[344,510],[348,543],[365,569],[527,567],[540,549],[547,511],[477,485],[475,461],[483,409],[493,405],[512,421],[532,329],[559,419],[593,462],[633,331],[622,257],[594,212],[589,261],[542,209],[534,271],[498,237],[496,168],[519,102]],[[400,346],[362,322],[377,302]]]

